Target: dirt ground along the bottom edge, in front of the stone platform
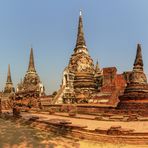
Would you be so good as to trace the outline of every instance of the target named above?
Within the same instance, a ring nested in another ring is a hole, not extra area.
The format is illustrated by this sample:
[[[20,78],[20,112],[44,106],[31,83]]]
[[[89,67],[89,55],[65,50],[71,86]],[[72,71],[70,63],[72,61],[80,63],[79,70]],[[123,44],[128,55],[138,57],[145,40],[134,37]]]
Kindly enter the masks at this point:
[[[61,137],[22,125],[18,121],[0,119],[0,148],[146,148],[124,144],[100,143]]]

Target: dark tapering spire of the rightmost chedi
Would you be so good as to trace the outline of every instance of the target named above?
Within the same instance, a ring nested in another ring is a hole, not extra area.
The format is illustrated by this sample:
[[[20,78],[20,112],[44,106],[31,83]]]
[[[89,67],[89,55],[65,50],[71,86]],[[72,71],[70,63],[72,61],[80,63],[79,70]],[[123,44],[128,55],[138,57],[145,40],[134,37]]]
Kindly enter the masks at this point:
[[[143,60],[142,60],[142,53],[141,53],[141,45],[137,44],[137,53],[134,62],[134,71],[143,71]]]

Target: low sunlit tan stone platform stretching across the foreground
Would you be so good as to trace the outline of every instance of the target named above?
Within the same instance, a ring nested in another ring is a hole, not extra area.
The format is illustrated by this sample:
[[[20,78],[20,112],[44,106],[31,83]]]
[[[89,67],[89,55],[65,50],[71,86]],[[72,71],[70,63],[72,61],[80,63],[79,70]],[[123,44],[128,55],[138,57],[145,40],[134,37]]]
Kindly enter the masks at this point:
[[[148,144],[148,121],[113,122],[96,121],[91,116],[81,115],[83,118],[63,117],[37,113],[23,113],[23,118],[39,117],[38,122],[51,125],[52,131],[64,128],[64,133],[77,138],[109,143]],[[79,116],[79,114],[78,114]],[[89,118],[88,118],[89,117]],[[84,119],[88,118],[88,119]],[[57,131],[56,131],[57,132]]]

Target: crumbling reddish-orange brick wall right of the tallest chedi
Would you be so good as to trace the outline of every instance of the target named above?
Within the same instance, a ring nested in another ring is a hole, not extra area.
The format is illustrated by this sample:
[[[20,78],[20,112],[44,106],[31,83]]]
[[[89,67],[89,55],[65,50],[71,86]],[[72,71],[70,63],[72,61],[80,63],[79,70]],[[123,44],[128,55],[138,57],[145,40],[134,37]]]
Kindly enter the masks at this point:
[[[123,94],[126,83],[125,76],[123,74],[117,74],[116,67],[103,68],[103,85],[99,93],[109,93],[108,103],[113,105],[117,104],[118,96]],[[103,95],[99,96],[98,99],[106,99],[103,97]]]

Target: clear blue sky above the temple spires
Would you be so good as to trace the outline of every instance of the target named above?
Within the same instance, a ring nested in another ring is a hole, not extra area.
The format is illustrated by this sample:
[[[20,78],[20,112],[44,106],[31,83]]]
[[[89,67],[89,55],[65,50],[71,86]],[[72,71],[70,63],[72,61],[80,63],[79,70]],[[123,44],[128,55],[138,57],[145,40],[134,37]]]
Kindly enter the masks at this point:
[[[129,71],[140,43],[148,74],[148,0],[0,0],[0,90],[8,64],[15,87],[24,77],[31,46],[46,93],[59,89],[75,47],[80,9],[94,63]]]

